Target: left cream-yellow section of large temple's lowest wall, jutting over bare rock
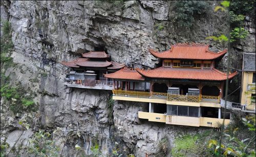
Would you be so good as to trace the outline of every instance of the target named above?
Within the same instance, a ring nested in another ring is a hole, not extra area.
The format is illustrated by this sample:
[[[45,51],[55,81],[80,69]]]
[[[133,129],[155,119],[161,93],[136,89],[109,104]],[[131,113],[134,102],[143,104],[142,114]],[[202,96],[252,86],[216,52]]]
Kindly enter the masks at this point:
[[[148,119],[148,121],[163,122],[165,123],[166,115],[160,113],[138,112],[138,117]],[[160,119],[159,119],[160,118]]]

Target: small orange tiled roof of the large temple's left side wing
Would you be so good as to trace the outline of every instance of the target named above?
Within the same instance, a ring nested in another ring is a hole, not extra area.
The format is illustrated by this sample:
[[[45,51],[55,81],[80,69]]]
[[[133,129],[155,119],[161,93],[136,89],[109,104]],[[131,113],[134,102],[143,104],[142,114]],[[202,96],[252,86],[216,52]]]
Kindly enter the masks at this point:
[[[145,80],[145,77],[140,75],[136,70],[129,68],[120,69],[114,73],[104,74],[105,77],[110,79],[123,79],[123,80]]]

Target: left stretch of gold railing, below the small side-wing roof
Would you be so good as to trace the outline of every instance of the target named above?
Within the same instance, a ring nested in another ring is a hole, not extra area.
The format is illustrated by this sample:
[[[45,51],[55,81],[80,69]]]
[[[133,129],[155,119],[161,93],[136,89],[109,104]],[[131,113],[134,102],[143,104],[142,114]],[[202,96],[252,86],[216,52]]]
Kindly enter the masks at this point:
[[[128,96],[128,97],[150,97],[150,92],[137,92],[137,91],[123,91],[123,90],[112,90],[116,96]]]

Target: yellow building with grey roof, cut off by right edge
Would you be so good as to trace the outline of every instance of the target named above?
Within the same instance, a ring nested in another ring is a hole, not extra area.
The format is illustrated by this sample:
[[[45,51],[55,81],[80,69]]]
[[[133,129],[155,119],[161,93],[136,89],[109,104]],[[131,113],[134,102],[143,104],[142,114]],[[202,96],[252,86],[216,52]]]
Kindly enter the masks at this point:
[[[244,53],[241,83],[241,104],[255,111],[255,54]]]

